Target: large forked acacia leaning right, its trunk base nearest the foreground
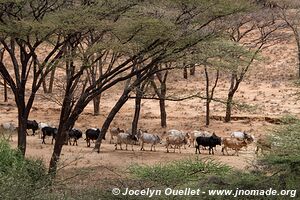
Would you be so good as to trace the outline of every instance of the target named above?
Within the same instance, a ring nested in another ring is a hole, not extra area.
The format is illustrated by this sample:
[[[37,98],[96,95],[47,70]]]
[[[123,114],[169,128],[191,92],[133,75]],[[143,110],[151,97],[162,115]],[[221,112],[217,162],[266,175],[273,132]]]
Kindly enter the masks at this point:
[[[69,65],[66,69],[66,74],[68,74],[66,79],[67,82],[65,84],[66,89],[63,98],[58,134],[56,137],[54,151],[49,167],[49,172],[53,175],[55,175],[57,161],[66,139],[66,133],[74,126],[75,121],[78,119],[79,115],[82,113],[86,105],[96,96],[101,94],[103,91],[108,90],[118,82],[125,81],[126,79],[135,76],[137,73],[142,72],[143,70],[146,70],[147,68],[150,68],[152,66],[152,63],[150,62],[147,65],[146,69],[135,71],[130,70],[133,67],[132,62],[136,60],[139,55],[143,55],[144,52],[153,51],[155,47],[162,43],[162,41],[160,41],[159,39],[151,41],[151,43],[148,43],[144,49],[142,49],[132,57],[125,57],[125,54],[120,51],[121,49],[128,49],[127,45],[130,45],[129,42],[131,40],[130,37],[132,37],[132,31],[127,30],[129,31],[130,35],[122,36],[121,34],[119,34],[117,28],[125,28],[124,21],[120,21],[121,19],[115,19],[119,18],[120,13],[130,10],[134,5],[135,4],[128,2],[105,2],[104,4],[94,4],[91,7],[78,7],[78,10],[82,10],[80,20],[87,22],[90,18],[90,15],[94,14],[93,20],[96,18],[98,21],[93,22],[93,25],[95,25],[93,27],[89,26],[86,29],[81,28],[81,32],[79,32],[78,34],[79,37],[74,38],[74,41],[76,41],[76,43],[71,45],[71,50],[74,53],[70,57],[70,59],[72,59],[71,65]],[[105,13],[104,16],[103,13]],[[70,14],[72,15],[73,13]],[[83,16],[85,16],[86,18],[84,18]],[[66,16],[65,14],[61,15],[60,17],[68,19],[70,18],[70,16]],[[73,18],[73,20],[77,21],[79,19]],[[101,25],[99,25],[99,23]],[[108,26],[104,27],[104,24]],[[92,29],[96,29],[96,31],[100,33],[100,35],[102,33],[106,33],[105,39],[103,40],[103,38],[99,37],[97,43],[94,43],[94,45],[92,46],[88,46],[86,51],[84,52],[85,54],[87,54],[85,55],[85,57],[89,58],[88,62],[83,62],[79,65],[79,67],[76,67],[76,65],[74,65],[75,61],[77,63],[79,62],[78,59],[76,60],[76,52],[78,53],[78,44],[85,38],[84,32],[88,33],[90,31],[93,31]],[[122,34],[125,33],[126,29],[123,29]],[[84,74],[84,71],[86,71],[86,69],[92,66],[99,59],[99,57],[94,56],[95,50],[99,51],[101,49],[112,49],[114,52],[120,52],[117,59],[121,64],[109,64],[108,66],[106,66],[102,76],[100,76],[94,84],[89,85],[87,88],[81,89],[82,93],[75,99],[74,94],[76,92],[76,88],[78,86],[80,78]],[[158,55],[158,53],[153,52],[152,56],[154,55]],[[141,60],[141,62],[145,62],[147,60],[149,60],[149,57]]]

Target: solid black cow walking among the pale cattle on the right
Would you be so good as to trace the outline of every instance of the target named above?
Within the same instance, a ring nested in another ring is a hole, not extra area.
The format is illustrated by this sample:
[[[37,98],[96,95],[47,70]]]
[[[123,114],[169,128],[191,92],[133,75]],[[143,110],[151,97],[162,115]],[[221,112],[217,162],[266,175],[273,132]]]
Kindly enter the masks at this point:
[[[195,146],[196,154],[197,154],[197,150],[199,151],[199,154],[201,154],[199,148],[200,145],[204,147],[208,146],[209,154],[210,154],[210,150],[212,150],[212,154],[214,154],[213,148],[216,147],[216,145],[221,145],[221,138],[218,137],[215,133],[213,133],[213,135],[210,137],[203,137],[203,136],[197,137],[196,142],[197,142],[197,145]]]

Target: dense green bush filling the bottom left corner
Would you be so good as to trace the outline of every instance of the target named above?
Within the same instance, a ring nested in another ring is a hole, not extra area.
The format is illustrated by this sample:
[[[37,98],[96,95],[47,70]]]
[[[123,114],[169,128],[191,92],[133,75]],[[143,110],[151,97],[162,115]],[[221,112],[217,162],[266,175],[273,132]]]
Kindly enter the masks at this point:
[[[25,159],[7,142],[0,141],[1,199],[50,199],[50,184],[42,160]]]

